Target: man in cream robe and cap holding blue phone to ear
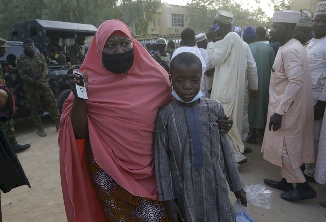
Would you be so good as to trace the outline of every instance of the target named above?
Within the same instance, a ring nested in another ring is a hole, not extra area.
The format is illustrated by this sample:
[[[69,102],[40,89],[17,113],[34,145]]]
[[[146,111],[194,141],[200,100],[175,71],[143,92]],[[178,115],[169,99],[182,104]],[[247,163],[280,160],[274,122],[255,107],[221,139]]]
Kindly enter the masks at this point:
[[[213,28],[206,33],[206,50],[215,67],[210,98],[221,102],[225,113],[234,121],[227,135],[240,167],[247,163],[246,156],[242,154],[245,148],[241,138],[247,60],[242,39],[232,31],[232,19],[231,12],[218,10]],[[213,40],[218,35],[222,40],[216,46]]]

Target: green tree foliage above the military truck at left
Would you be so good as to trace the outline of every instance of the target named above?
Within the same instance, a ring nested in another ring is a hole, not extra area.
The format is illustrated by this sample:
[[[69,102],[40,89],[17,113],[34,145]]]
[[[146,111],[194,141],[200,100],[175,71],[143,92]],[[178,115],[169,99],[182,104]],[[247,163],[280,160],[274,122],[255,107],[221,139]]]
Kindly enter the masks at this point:
[[[0,0],[0,36],[7,38],[10,25],[32,19],[93,24],[118,19],[137,34],[148,32],[160,0]]]

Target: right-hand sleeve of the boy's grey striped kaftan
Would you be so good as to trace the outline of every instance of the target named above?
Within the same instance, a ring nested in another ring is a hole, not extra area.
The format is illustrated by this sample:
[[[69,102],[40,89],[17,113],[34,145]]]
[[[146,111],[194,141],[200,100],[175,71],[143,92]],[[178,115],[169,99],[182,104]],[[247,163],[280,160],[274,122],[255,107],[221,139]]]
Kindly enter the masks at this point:
[[[219,116],[224,118],[224,109],[221,103],[219,104]],[[240,174],[236,166],[236,162],[229,144],[227,135],[219,131],[220,145],[223,153],[224,164],[225,164],[225,175],[229,183],[230,190],[232,192],[239,191],[243,188]]]

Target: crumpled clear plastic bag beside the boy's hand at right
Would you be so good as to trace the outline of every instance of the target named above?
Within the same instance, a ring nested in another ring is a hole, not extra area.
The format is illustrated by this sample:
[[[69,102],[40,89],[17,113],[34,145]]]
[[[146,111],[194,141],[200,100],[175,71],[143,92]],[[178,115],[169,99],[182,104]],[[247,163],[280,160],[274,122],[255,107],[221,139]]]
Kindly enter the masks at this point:
[[[266,187],[260,184],[244,186],[243,189],[249,204],[264,209],[271,208],[271,190],[266,190]]]

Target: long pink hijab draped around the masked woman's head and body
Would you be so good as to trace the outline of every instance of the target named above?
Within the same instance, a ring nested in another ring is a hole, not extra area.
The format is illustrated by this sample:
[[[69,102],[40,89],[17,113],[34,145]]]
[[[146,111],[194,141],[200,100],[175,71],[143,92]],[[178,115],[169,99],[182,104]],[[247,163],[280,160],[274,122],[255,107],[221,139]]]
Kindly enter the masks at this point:
[[[114,31],[131,39],[134,63],[115,74],[102,64],[102,50]],[[160,107],[172,100],[168,73],[118,20],[102,23],[80,71],[88,72],[86,111],[94,159],[118,184],[136,196],[158,200],[154,169],[154,123]],[[78,152],[66,100],[59,130],[60,172],[68,221],[100,221],[84,150]],[[79,218],[79,219],[78,219]],[[86,219],[87,218],[87,219]],[[80,220],[81,219],[81,220]]]

